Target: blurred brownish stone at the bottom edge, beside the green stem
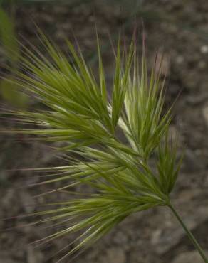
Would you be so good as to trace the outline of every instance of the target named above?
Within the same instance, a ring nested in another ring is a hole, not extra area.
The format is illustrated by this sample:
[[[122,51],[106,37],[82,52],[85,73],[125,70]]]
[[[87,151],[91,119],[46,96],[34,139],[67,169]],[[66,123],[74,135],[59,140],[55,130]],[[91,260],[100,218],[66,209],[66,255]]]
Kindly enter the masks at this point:
[[[207,253],[206,253],[207,254]],[[204,260],[200,256],[199,252],[182,252],[173,259],[172,263],[204,263]]]

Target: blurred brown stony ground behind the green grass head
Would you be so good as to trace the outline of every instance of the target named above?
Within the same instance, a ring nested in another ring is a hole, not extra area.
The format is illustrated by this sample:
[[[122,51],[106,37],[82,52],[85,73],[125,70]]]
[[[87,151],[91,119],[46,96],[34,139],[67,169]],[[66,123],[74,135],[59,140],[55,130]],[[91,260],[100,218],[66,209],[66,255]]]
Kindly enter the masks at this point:
[[[167,75],[166,103],[175,101],[171,129],[180,132],[186,147],[182,171],[172,194],[180,211],[199,243],[208,250],[208,1],[207,0],[1,0],[1,43],[16,45],[7,36],[16,34],[21,43],[31,42],[41,48],[36,26],[66,50],[65,39],[78,39],[85,58],[96,69],[95,24],[108,83],[113,79],[113,53],[109,41],[116,41],[122,28],[130,40],[135,24],[142,33],[145,25],[147,58],[152,63],[155,52],[164,53],[162,74]],[[9,20],[13,24],[9,24]],[[73,36],[74,35],[74,36]],[[139,36],[139,45],[141,36]],[[16,52],[19,47],[16,47]],[[7,53],[7,56],[5,55]],[[0,63],[15,67],[16,58],[0,46]],[[1,74],[4,73],[0,68]],[[1,80],[2,107],[38,107],[19,97],[14,87]],[[0,123],[14,127],[12,120]],[[33,213],[46,186],[22,188],[38,179],[31,171],[18,168],[50,166],[57,163],[48,146],[26,136],[0,137],[0,218]],[[61,198],[61,194],[57,195]],[[0,229],[26,225],[24,218],[0,220]],[[41,226],[24,226],[1,232],[0,263],[56,262],[56,252],[73,240],[73,236],[54,240],[49,245],[28,245],[48,233]],[[55,255],[54,255],[55,254]],[[51,259],[53,257],[53,259]],[[180,225],[166,208],[137,213],[124,220],[93,247],[70,261],[75,263],[199,263],[200,259]]]

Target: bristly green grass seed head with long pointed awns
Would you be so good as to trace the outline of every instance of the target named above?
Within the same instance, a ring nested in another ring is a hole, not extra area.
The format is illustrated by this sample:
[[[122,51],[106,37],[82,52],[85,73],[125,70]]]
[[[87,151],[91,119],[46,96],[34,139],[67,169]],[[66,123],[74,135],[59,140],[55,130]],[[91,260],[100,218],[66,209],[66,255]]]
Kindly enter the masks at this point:
[[[10,112],[28,129],[7,132],[62,142],[59,150],[68,154],[68,165],[45,168],[50,177],[41,183],[62,181],[64,186],[57,191],[79,184],[92,188],[84,198],[54,203],[56,209],[51,203],[35,214],[46,216],[37,223],[68,220],[68,227],[46,241],[83,231],[68,255],[92,244],[132,213],[169,205],[182,159],[177,159],[177,141],[170,142],[168,134],[171,114],[163,109],[164,80],[155,65],[148,77],[145,47],[139,60],[134,39],[128,51],[118,41],[113,92],[108,96],[99,41],[96,80],[79,48],[68,42],[69,59],[45,36],[41,38],[48,55],[23,47],[14,82],[45,107]],[[118,138],[120,131],[127,143]]]

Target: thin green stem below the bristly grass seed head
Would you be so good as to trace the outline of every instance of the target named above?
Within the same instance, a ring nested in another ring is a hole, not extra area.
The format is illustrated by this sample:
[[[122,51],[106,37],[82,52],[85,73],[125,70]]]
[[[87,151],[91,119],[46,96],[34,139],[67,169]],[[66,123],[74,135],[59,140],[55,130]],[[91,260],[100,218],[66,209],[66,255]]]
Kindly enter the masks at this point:
[[[177,218],[177,220],[179,220],[180,224],[182,225],[182,227],[184,228],[185,232],[187,233],[187,236],[189,237],[189,240],[192,241],[192,244],[194,245],[194,247],[198,250],[199,254],[202,256],[202,259],[204,259],[205,263],[208,263],[208,259],[204,254],[204,251],[202,249],[202,247],[199,245],[199,243],[197,242],[197,240],[195,239],[194,235],[192,235],[192,232],[190,232],[187,228],[187,226],[184,224],[182,218],[180,217],[180,215],[178,215],[177,211],[175,210],[175,208],[172,206],[172,204],[168,205],[169,208],[172,210],[172,213],[174,213],[175,217]]]

